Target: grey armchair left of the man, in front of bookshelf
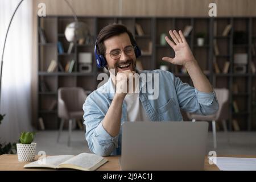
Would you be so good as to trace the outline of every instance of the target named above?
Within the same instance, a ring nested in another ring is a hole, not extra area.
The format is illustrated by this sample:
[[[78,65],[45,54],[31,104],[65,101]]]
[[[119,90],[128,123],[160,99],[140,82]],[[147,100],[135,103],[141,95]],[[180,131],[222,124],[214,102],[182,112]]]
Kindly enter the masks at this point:
[[[72,122],[75,122],[75,119],[82,119],[84,114],[82,105],[85,99],[86,94],[82,88],[63,87],[58,89],[58,117],[61,118],[61,123],[57,142],[59,142],[64,122],[68,120],[68,146],[70,146]]]

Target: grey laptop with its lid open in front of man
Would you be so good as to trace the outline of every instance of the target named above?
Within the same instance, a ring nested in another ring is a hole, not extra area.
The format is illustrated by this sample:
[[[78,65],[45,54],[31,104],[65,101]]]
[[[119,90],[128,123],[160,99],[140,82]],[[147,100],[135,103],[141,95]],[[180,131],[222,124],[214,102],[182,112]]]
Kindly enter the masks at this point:
[[[122,170],[203,170],[208,122],[125,122]]]

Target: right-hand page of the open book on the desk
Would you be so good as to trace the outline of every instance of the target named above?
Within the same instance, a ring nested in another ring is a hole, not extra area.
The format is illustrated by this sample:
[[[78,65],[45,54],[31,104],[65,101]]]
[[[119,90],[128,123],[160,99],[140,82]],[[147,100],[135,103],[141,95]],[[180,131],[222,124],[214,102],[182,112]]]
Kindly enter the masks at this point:
[[[103,161],[103,163],[102,163]],[[96,154],[89,154],[89,153],[81,153],[63,163],[61,163],[59,166],[65,166],[65,167],[70,167],[72,165],[84,168],[84,169],[88,169],[88,170],[94,170],[97,167],[99,167],[99,163],[100,166],[102,164],[104,164],[105,162],[107,162],[108,160],[105,158],[102,158],[102,156],[96,155]],[[72,165],[66,165],[66,164],[72,164]]]

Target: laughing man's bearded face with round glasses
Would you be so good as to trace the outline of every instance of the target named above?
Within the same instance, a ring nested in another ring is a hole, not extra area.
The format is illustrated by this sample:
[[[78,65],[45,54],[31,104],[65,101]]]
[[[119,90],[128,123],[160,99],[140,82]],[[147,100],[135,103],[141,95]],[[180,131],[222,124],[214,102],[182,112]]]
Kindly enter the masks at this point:
[[[115,69],[115,75],[119,71],[131,70],[135,71],[136,67],[136,56],[134,52],[134,48],[129,51],[132,44],[127,33],[123,33],[117,36],[112,36],[109,39],[104,41],[104,45],[106,47],[106,61],[108,65],[108,69]],[[118,59],[113,59],[113,55],[118,55],[118,50],[121,50],[121,56]],[[125,51],[128,55],[126,55]],[[112,55],[112,56],[111,56]]]

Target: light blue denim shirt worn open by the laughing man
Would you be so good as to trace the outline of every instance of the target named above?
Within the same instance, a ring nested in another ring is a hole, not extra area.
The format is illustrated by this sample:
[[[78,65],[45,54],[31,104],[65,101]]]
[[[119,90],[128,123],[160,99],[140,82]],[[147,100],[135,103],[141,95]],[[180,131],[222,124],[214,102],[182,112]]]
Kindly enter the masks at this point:
[[[155,70],[141,71],[144,75],[152,76],[146,83],[139,80],[139,100],[151,121],[183,121],[180,109],[189,113],[202,115],[214,114],[218,110],[218,101],[214,92],[200,92],[196,88],[183,83],[171,72]],[[154,77],[154,75],[156,75]],[[156,79],[158,78],[158,80]],[[159,85],[154,85],[155,83]],[[146,85],[154,85],[154,92],[144,92]],[[152,97],[154,94],[158,97]],[[122,123],[127,122],[127,105],[122,104],[121,128],[119,134],[112,137],[102,126],[110,104],[114,97],[112,80],[109,79],[100,88],[89,94],[83,105],[85,138],[90,151],[101,156],[121,155]],[[154,98],[154,99],[152,99]]]

